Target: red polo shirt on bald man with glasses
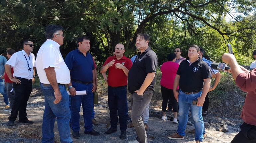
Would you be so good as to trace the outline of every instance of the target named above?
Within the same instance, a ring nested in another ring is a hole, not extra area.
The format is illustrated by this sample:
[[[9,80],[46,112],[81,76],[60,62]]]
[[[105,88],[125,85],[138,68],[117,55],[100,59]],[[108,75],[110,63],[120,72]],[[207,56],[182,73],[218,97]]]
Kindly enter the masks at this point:
[[[115,63],[113,64],[113,66],[108,68],[108,86],[111,86],[111,87],[125,86],[127,85],[127,76],[125,75],[122,69],[115,68],[115,64],[121,63],[128,70],[130,70],[132,67],[132,61],[125,56],[123,56],[119,60],[116,59],[116,56],[110,56],[106,59],[103,66],[108,64],[113,59],[115,59]]]

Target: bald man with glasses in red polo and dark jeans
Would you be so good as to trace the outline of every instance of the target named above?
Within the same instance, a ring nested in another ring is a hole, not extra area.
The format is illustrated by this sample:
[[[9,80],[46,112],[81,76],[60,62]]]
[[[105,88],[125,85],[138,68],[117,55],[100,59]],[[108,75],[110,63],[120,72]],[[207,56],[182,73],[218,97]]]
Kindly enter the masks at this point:
[[[106,59],[100,69],[100,73],[108,70],[108,107],[110,111],[111,127],[105,134],[111,134],[117,130],[117,111],[120,123],[120,139],[126,138],[126,115],[127,115],[127,76],[132,61],[124,56],[124,45],[117,44],[115,47],[115,55]]]

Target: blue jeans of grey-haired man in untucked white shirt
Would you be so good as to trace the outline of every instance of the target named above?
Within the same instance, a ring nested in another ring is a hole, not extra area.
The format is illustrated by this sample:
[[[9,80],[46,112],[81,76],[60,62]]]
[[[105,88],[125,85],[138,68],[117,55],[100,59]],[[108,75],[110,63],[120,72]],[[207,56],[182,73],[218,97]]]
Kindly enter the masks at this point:
[[[45,111],[42,124],[42,143],[54,142],[54,123],[57,117],[58,130],[61,143],[73,143],[70,137],[69,120],[70,110],[68,106],[69,96],[64,85],[59,85],[62,99],[58,104],[54,104],[54,89],[51,85],[40,84],[41,90],[45,95]]]

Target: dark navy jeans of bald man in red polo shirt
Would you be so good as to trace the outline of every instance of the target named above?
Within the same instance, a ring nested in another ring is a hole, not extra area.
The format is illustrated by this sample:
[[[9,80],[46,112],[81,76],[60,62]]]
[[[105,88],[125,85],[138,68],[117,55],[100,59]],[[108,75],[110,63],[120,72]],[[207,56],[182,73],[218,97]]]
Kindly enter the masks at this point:
[[[125,131],[127,129],[126,117],[127,117],[127,89],[126,86],[118,88],[108,86],[108,108],[110,111],[110,124],[111,127],[117,126],[117,113],[119,117],[120,130]]]

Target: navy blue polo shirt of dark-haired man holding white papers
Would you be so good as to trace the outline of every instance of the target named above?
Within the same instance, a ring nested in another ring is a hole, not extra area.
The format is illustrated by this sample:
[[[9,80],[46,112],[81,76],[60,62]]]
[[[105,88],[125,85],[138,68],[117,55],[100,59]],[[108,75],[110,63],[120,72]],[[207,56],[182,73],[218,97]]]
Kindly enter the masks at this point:
[[[77,48],[67,54],[65,63],[70,70],[71,80],[92,82],[92,70],[94,66],[92,56],[89,52],[86,52],[86,56],[84,56]]]

